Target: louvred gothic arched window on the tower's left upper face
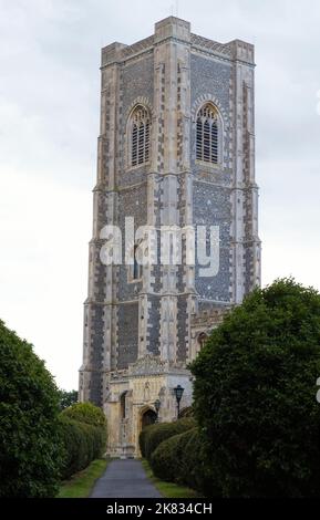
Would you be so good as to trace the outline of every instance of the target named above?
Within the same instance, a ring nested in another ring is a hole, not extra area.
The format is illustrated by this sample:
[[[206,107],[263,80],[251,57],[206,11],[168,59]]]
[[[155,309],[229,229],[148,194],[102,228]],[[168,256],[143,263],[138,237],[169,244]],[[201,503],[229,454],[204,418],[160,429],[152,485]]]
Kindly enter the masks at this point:
[[[151,118],[143,105],[137,105],[130,122],[130,164],[140,166],[149,159]]]

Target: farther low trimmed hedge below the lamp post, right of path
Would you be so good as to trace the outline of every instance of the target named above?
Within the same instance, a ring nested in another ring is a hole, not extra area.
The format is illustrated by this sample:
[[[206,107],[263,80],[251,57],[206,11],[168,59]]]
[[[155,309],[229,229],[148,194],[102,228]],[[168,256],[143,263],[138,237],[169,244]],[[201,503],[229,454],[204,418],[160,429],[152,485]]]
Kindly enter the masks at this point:
[[[151,460],[153,451],[164,440],[173,437],[174,435],[182,434],[196,425],[192,417],[185,417],[174,423],[159,423],[147,426],[140,434],[140,449],[142,456]]]

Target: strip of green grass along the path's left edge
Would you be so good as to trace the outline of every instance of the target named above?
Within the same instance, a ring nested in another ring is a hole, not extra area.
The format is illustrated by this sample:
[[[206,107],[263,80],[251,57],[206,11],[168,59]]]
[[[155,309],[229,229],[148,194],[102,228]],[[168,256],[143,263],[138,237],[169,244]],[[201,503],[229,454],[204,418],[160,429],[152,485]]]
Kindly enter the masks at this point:
[[[58,498],[86,498],[94,482],[104,474],[106,459],[93,460],[87,468],[73,475],[71,480],[62,482]]]

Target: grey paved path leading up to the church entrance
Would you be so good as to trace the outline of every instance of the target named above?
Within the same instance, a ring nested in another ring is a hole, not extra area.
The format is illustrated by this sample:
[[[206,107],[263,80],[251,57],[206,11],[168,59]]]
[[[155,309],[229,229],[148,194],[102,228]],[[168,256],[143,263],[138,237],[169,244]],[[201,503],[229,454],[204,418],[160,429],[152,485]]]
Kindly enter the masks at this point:
[[[95,482],[91,498],[161,498],[140,460],[112,460]]]

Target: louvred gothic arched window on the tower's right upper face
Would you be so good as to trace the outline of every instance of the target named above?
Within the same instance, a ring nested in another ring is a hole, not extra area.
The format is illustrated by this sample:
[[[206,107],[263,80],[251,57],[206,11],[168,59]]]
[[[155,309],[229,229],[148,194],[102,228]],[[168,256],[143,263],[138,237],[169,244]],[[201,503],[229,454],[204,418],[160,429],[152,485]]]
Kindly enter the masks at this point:
[[[205,104],[197,114],[196,158],[204,163],[219,163],[220,124],[217,108]]]

